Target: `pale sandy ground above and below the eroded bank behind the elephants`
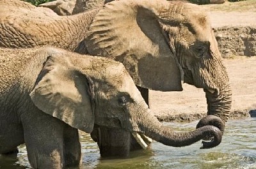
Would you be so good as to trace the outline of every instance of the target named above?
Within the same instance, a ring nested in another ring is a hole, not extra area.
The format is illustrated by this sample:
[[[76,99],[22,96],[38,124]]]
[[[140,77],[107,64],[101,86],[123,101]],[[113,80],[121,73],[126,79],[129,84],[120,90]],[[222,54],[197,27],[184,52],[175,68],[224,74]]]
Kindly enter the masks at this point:
[[[205,7],[207,8],[207,6]],[[256,12],[210,11],[212,27],[256,27]],[[231,117],[250,117],[256,114],[256,56],[224,59],[232,87]],[[150,106],[161,121],[193,121],[207,112],[205,93],[188,84],[182,92],[150,91]]]

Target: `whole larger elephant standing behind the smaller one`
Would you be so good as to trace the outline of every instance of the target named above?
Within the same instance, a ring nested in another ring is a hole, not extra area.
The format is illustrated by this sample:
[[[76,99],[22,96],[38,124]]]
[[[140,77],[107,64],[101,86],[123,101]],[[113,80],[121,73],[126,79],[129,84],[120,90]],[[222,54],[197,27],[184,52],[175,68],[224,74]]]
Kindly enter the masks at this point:
[[[106,4],[98,14],[93,10],[69,17],[22,1],[4,0],[0,7],[0,47],[53,45],[110,57],[124,64],[146,103],[148,89],[182,91],[186,82],[204,88],[208,115],[224,123],[228,119],[232,93],[227,71],[209,17],[195,4],[121,0]],[[102,156],[127,156],[138,147],[129,132],[116,130],[113,134],[95,126],[92,138]]]

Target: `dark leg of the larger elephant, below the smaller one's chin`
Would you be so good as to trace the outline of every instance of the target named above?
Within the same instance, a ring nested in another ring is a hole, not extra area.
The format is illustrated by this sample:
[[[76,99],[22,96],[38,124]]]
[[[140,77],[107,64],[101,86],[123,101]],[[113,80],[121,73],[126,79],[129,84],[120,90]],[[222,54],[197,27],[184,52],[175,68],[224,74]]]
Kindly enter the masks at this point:
[[[97,141],[102,158],[129,156],[131,140],[129,131],[99,126],[93,129],[91,136]]]

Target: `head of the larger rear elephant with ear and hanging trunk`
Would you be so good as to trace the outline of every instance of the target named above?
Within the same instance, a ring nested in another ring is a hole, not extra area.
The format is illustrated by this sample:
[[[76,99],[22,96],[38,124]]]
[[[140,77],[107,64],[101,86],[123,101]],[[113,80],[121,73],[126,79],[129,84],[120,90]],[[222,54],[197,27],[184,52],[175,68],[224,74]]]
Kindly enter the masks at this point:
[[[122,62],[140,87],[182,91],[185,82],[203,88],[207,114],[227,122],[232,101],[227,71],[209,17],[200,6],[113,1],[96,15],[86,45],[90,54]]]

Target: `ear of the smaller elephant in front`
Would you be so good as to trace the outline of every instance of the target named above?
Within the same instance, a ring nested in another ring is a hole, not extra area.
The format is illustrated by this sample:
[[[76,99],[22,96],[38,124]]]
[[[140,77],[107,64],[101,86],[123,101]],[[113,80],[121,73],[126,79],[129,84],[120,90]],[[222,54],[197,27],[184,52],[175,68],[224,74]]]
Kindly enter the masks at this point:
[[[94,125],[92,92],[90,79],[72,68],[65,57],[51,56],[45,62],[30,97],[46,114],[91,133]]]

